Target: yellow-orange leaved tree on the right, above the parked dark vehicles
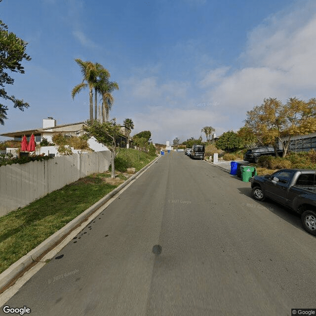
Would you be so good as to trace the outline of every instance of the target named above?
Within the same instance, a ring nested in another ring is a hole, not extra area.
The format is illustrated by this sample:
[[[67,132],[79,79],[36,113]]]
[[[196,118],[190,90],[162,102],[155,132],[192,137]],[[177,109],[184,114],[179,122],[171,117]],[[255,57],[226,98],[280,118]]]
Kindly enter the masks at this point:
[[[316,131],[316,99],[308,102],[289,98],[283,105],[276,98],[264,99],[261,106],[247,111],[245,126],[249,127],[265,145],[272,144],[275,148],[279,141],[283,149],[283,157],[288,151],[292,136],[309,134]],[[282,141],[282,137],[287,137]]]

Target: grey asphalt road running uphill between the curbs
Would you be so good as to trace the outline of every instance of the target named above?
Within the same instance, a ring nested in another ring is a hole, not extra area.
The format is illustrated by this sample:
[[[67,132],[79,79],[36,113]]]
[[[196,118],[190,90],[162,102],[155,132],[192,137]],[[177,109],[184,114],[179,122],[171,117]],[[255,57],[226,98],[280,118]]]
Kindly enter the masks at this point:
[[[250,183],[165,154],[5,305],[32,316],[291,315],[316,308],[315,242],[298,216],[253,200]]]

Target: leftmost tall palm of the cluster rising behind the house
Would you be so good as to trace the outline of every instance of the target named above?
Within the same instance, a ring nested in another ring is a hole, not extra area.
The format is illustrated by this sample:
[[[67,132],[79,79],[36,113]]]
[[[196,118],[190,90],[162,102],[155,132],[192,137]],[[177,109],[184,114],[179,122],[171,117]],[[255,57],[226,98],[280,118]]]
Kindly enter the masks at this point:
[[[80,71],[82,74],[82,82],[77,84],[72,92],[71,95],[73,99],[75,95],[78,94],[82,89],[88,88],[89,89],[89,109],[90,109],[90,120],[93,120],[93,88],[96,83],[96,65],[91,61],[82,61],[81,59],[75,59],[76,63],[80,67]]]

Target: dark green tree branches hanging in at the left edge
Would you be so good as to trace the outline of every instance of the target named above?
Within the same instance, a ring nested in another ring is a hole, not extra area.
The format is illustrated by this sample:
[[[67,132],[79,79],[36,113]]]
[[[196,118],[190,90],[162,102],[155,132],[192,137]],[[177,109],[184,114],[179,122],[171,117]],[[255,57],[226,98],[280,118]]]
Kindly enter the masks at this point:
[[[30,61],[31,57],[25,52],[27,42],[18,38],[14,33],[8,32],[7,29],[7,25],[0,20],[0,97],[12,101],[14,108],[24,111],[30,105],[24,100],[16,99],[14,95],[8,95],[4,86],[14,83],[14,79],[9,76],[7,70],[24,74],[24,67],[21,63],[23,60]],[[4,119],[7,119],[7,110],[7,106],[0,104],[1,125],[4,125]]]

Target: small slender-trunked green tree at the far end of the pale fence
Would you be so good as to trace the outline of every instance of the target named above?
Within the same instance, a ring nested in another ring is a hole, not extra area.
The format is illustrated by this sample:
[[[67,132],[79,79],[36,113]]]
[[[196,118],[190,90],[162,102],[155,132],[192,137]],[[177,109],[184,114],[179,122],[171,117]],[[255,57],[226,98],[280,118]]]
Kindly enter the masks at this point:
[[[95,137],[96,140],[107,146],[111,151],[111,178],[115,179],[114,159],[118,154],[117,141],[120,132],[120,126],[116,123],[116,119],[111,121],[99,122],[97,120],[88,120],[83,130],[88,137]]]

